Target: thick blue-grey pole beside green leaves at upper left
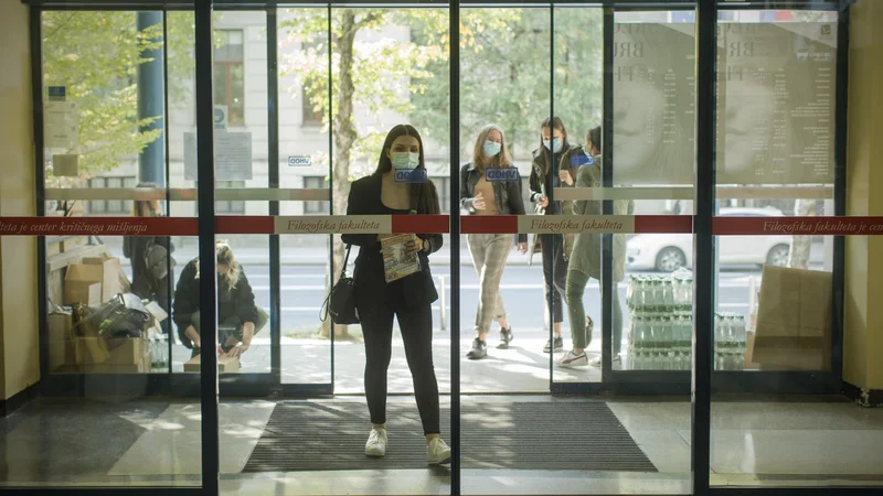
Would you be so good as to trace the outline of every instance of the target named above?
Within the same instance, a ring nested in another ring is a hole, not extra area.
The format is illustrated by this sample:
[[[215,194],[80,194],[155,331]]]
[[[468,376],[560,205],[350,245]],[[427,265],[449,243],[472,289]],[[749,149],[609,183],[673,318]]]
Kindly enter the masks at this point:
[[[163,25],[162,12],[138,12],[138,32],[156,26]],[[151,42],[162,42],[161,35],[151,39]],[[141,132],[164,130],[164,77],[162,75],[163,65],[163,44],[159,43],[156,50],[146,50],[141,57],[149,58],[150,62],[138,64],[138,119],[156,119],[153,122],[142,126]],[[138,180],[157,183],[160,187],[166,185],[166,174],[163,174],[166,157],[166,141],[157,138],[148,143],[138,155]]]

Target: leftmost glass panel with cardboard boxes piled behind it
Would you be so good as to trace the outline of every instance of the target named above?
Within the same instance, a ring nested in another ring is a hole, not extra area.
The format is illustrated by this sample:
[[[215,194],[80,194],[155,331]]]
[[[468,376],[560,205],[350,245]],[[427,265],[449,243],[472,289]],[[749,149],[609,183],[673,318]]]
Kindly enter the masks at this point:
[[[33,298],[47,299],[50,375],[36,376],[40,398],[0,420],[0,484],[199,486],[199,400],[157,397],[147,377],[169,373],[172,281],[148,261],[150,245],[171,251],[170,219],[129,218],[168,215],[162,67],[192,57],[164,60],[161,12],[45,11],[41,23],[45,217],[95,228],[46,236],[46,294]],[[153,184],[124,190],[139,181]],[[157,233],[125,235],[145,226]],[[20,331],[38,343],[36,328]]]

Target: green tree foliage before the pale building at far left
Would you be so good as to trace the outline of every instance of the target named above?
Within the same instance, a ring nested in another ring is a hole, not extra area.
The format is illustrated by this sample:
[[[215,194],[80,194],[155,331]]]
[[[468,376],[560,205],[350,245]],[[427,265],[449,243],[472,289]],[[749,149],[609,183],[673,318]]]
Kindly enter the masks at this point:
[[[137,157],[162,136],[145,130],[162,115],[138,116],[138,66],[162,48],[163,26],[138,31],[135,12],[46,11],[42,19],[43,86],[64,86],[68,101],[77,104],[81,176],[109,172],[121,160]],[[169,71],[183,73],[192,66],[192,14],[170,15],[167,32]],[[191,68],[192,72],[192,68]],[[181,84],[170,78],[170,84]],[[179,91],[180,94],[180,91]],[[74,179],[76,181],[77,179]],[[51,177],[54,186],[71,185],[67,177]]]

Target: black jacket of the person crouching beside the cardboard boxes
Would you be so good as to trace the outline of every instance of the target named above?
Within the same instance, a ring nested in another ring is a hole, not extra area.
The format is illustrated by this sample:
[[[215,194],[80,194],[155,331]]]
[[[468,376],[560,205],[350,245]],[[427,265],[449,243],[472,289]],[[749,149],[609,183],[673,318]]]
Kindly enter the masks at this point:
[[[178,279],[178,285],[174,289],[172,319],[180,332],[183,332],[191,324],[190,319],[193,316],[193,312],[200,310],[200,280],[196,279],[198,260],[193,259],[184,266],[184,270]],[[217,276],[217,324],[220,325],[232,316],[240,317],[241,322],[257,323],[255,293],[248,283],[248,278],[245,277],[245,269],[240,266],[240,278],[233,289],[227,287],[220,274],[215,273],[215,276]]]

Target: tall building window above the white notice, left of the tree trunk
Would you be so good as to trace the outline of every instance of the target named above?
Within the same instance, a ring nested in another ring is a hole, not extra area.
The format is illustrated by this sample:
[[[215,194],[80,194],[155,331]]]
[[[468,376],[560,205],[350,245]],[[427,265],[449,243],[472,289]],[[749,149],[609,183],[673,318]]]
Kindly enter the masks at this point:
[[[227,107],[228,126],[245,126],[245,36],[242,30],[220,30],[214,37],[214,103]]]

